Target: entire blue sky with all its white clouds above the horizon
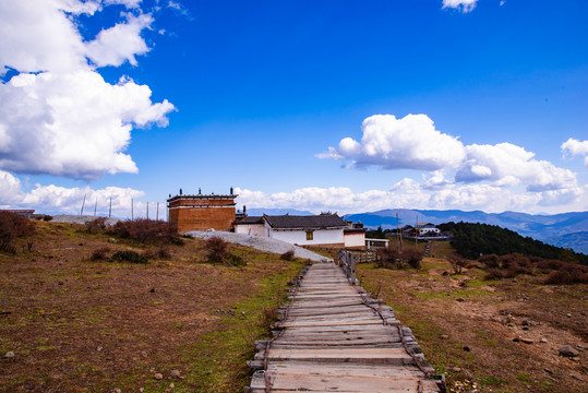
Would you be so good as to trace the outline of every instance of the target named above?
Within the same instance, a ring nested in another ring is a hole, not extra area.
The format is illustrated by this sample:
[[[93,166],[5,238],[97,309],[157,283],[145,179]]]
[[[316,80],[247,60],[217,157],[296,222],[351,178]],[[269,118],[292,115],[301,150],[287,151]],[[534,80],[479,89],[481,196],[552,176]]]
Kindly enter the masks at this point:
[[[0,1],[0,205],[588,210],[588,3]],[[24,28],[34,25],[36,28]]]

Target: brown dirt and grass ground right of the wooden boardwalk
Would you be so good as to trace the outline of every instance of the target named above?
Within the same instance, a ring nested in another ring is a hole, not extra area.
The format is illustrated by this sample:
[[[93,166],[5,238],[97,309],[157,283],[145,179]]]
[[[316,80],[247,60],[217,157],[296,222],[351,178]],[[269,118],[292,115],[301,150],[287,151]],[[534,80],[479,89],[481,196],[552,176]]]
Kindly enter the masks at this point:
[[[485,282],[476,267],[444,271],[447,262],[425,259],[420,271],[361,265],[359,276],[412,329],[449,391],[587,391],[587,285],[544,286],[539,276]],[[579,356],[560,356],[564,345]]]

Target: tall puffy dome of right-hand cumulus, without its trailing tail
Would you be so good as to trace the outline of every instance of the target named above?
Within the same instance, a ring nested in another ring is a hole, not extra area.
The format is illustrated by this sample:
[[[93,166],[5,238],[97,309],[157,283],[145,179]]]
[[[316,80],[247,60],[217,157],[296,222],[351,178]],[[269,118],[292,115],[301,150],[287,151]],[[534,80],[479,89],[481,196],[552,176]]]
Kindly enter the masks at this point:
[[[437,131],[427,115],[375,115],[363,120],[361,143],[345,138],[320,158],[350,159],[351,166],[436,170],[465,157],[457,138]]]

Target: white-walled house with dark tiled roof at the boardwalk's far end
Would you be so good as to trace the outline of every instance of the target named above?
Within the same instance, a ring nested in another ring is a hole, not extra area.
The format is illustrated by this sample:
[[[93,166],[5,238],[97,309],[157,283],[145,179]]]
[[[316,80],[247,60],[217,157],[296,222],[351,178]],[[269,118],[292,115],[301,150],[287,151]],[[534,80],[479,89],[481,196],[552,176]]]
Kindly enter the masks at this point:
[[[345,246],[347,224],[336,214],[263,216],[265,236],[299,246]]]

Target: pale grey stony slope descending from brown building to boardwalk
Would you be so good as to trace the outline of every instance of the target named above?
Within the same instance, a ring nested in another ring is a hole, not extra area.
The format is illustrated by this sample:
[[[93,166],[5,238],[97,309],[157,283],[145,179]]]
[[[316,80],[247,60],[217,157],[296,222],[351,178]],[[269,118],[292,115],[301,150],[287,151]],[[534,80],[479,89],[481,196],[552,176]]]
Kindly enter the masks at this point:
[[[191,230],[185,235],[190,235],[196,238],[209,239],[214,236],[221,238],[225,241],[231,243],[238,243],[241,246],[252,247],[262,251],[269,251],[275,253],[284,253],[286,251],[293,250],[295,255],[298,258],[310,259],[311,261],[322,262],[322,261],[332,261],[331,259],[319,255],[315,252],[309,251],[302,247],[293,246],[287,241],[271,239],[260,236],[251,236],[244,234],[233,234],[225,231],[202,231],[202,230]]]

